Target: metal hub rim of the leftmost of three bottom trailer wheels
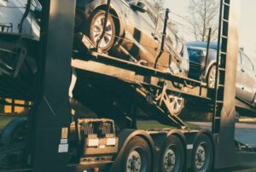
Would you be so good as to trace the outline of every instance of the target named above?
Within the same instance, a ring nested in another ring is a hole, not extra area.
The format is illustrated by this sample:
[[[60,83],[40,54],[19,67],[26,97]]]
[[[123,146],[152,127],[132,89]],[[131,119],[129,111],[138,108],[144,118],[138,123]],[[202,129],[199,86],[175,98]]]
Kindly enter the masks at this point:
[[[126,162],[126,172],[139,172],[142,169],[142,158],[137,151],[132,151]]]

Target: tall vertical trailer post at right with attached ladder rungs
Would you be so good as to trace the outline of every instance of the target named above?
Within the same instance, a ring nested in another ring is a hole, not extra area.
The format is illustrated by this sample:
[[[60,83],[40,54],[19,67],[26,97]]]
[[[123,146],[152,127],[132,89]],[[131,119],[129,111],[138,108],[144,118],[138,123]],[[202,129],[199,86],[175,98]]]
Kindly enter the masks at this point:
[[[212,133],[215,145],[215,169],[239,164],[235,147],[236,129],[236,66],[239,52],[239,1],[222,0],[218,36],[218,67],[215,112]]]

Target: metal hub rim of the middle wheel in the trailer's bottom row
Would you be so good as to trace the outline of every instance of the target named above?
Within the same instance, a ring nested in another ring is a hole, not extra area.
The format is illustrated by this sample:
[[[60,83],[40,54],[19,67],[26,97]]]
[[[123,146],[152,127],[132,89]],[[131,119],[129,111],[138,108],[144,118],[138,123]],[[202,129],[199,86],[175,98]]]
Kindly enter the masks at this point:
[[[175,152],[171,149],[171,147],[166,151],[164,157],[164,167],[168,172],[172,172],[176,163],[176,155]]]

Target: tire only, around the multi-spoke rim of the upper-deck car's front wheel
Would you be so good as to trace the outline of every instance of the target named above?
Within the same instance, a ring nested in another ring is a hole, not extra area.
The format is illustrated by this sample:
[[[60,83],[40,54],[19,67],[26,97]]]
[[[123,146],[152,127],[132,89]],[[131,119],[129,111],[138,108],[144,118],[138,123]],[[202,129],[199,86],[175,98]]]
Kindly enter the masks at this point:
[[[106,14],[106,11],[102,10],[102,9],[94,11],[92,14],[90,14],[90,18],[89,18],[88,22],[86,23],[86,26],[83,27],[85,29],[85,31],[82,31],[82,32],[84,32],[90,38],[91,42],[94,43],[95,45],[96,45],[96,41],[94,41],[94,39],[93,39],[94,27],[92,25],[98,17],[105,16],[105,14]],[[102,53],[107,53],[108,50],[113,47],[113,43],[115,42],[116,28],[115,28],[115,23],[113,21],[111,14],[108,14],[108,21],[110,22],[110,24],[112,26],[113,34],[112,34],[110,43],[108,43],[108,46],[106,46],[104,48],[100,48]]]

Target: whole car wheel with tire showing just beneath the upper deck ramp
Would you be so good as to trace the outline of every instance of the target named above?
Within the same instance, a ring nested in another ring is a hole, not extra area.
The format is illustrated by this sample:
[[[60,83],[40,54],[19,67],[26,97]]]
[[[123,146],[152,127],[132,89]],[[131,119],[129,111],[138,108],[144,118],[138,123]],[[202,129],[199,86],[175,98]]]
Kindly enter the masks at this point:
[[[178,116],[183,112],[186,104],[186,97],[179,93],[171,93],[169,95],[169,100],[171,103],[171,113],[172,115]]]

